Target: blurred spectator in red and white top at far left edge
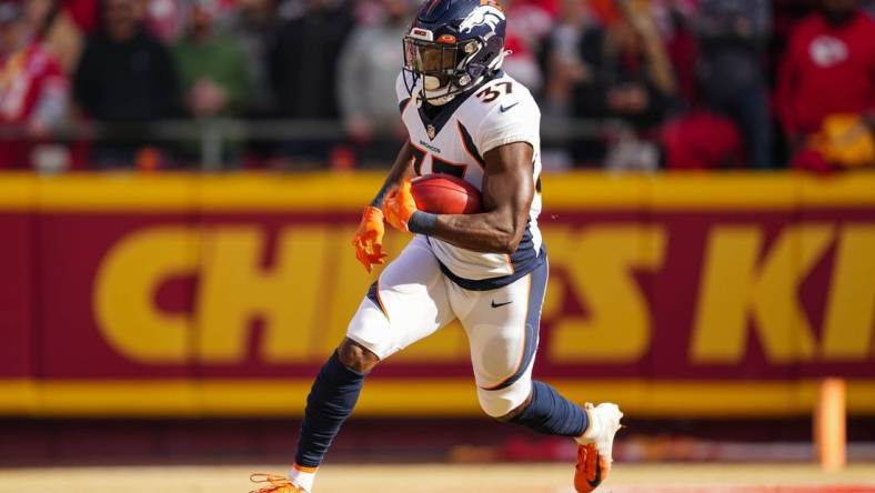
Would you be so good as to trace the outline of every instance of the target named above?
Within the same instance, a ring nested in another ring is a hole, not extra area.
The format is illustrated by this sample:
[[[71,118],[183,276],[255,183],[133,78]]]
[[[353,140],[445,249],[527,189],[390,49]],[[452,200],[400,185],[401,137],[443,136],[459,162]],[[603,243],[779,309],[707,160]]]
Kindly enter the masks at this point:
[[[68,99],[67,77],[36,40],[21,4],[0,0],[0,169],[43,165],[39,154],[48,155],[46,141],[64,121]]]

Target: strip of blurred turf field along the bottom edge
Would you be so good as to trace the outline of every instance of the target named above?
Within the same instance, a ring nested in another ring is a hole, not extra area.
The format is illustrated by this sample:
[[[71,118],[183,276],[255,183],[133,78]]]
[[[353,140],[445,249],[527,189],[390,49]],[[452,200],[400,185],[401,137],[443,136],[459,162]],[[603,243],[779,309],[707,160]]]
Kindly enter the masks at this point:
[[[0,493],[245,493],[250,472],[282,465],[0,470]],[[316,493],[573,493],[571,465],[326,465]],[[875,464],[823,474],[809,465],[617,464],[599,490],[615,493],[875,492]]]

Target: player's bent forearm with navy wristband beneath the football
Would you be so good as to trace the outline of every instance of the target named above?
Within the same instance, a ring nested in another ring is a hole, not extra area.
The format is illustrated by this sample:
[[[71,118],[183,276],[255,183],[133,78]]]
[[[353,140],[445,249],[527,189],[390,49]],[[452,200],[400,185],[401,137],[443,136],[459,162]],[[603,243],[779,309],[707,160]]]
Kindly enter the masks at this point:
[[[438,238],[455,247],[485,253],[516,251],[525,230],[523,221],[506,213],[429,214],[418,211],[409,224],[412,232]]]

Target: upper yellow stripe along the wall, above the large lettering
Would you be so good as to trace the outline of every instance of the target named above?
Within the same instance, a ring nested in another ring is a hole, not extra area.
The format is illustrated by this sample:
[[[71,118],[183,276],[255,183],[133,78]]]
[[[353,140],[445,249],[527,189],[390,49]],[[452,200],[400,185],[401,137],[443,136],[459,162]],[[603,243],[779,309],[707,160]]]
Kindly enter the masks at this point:
[[[383,182],[383,172],[312,173],[71,173],[0,174],[0,210],[358,211]],[[545,174],[547,209],[788,210],[875,204],[875,173],[593,172]]]

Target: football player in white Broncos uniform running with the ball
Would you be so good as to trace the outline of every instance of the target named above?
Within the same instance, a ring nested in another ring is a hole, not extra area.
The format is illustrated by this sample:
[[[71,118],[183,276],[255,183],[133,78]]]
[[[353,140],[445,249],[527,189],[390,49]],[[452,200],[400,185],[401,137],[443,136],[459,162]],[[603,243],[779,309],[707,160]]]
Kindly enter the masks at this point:
[[[494,0],[429,0],[404,37],[396,92],[410,138],[365,208],[353,247],[370,272],[386,258],[384,220],[414,238],[371,285],[316,376],[289,476],[254,477],[268,483],[260,493],[312,492],[368,373],[455,319],[467,333],[483,411],[576,440],[579,492],[606,477],[620,409],[580,406],[532,380],[549,271],[537,228],[541,114],[529,90],[501,70],[505,27]],[[477,188],[483,212],[416,210],[410,179],[430,173]]]

